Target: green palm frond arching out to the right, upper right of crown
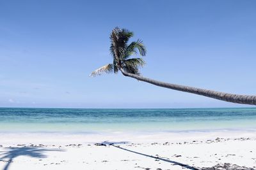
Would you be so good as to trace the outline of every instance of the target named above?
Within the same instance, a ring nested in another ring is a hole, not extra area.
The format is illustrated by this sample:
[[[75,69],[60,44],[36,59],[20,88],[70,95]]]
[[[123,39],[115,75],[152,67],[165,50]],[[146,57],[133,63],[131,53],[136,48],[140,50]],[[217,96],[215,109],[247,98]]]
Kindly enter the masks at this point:
[[[124,59],[129,58],[131,55],[136,55],[138,53],[137,50],[141,56],[145,56],[147,53],[146,47],[144,46],[143,41],[140,39],[133,41],[126,47]]]

